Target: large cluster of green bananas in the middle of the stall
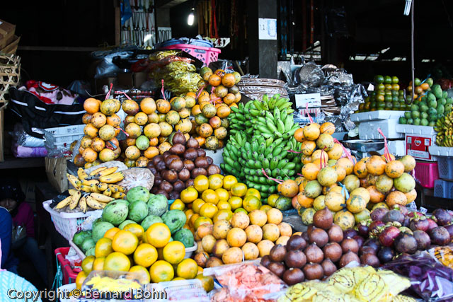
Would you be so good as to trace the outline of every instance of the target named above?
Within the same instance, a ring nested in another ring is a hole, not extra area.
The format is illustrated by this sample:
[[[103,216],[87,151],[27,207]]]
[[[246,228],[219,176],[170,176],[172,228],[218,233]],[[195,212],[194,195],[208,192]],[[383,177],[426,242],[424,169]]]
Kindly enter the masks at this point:
[[[300,156],[294,153],[301,144],[292,137],[299,126],[294,124],[290,107],[287,98],[264,95],[263,101],[232,108],[231,136],[221,168],[258,190],[263,201],[277,193],[280,180],[289,180],[302,168]]]

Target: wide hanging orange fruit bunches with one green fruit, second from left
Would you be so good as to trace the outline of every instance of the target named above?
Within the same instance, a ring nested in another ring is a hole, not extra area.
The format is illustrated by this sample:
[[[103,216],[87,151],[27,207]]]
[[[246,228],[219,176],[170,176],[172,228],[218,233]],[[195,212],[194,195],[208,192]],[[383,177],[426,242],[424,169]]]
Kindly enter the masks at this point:
[[[125,165],[129,168],[146,167],[150,159],[171,148],[171,138],[178,130],[189,139],[192,123],[188,117],[194,105],[193,93],[170,101],[144,98],[137,103],[135,100],[124,100],[122,110],[127,113],[127,139],[122,141]]]

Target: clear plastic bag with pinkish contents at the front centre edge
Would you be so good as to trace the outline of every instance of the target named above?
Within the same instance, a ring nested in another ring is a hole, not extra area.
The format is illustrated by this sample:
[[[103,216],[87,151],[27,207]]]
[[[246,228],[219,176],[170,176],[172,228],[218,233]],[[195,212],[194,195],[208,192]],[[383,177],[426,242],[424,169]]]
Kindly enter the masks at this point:
[[[275,301],[264,296],[287,287],[282,279],[256,262],[213,267],[212,272],[219,284],[224,286],[210,293],[213,302]]]

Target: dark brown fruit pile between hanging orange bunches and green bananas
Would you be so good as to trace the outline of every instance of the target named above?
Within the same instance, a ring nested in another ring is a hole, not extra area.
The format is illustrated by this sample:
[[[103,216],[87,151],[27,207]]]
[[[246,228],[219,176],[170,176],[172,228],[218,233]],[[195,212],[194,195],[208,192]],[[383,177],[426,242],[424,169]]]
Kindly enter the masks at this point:
[[[200,149],[200,144],[193,137],[185,140],[178,131],[172,139],[173,146],[163,154],[154,156],[148,168],[154,174],[153,194],[164,194],[168,199],[178,199],[180,192],[193,185],[198,175],[220,174],[218,165]]]

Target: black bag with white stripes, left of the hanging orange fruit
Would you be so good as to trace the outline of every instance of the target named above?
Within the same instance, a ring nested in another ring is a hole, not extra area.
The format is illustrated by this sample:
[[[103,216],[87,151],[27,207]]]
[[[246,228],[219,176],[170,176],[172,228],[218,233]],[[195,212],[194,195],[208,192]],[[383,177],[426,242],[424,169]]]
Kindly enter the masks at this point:
[[[40,139],[44,138],[43,134],[33,132],[32,127],[45,129],[82,124],[82,117],[86,113],[81,97],[78,103],[62,105],[46,104],[33,93],[16,88],[10,88],[9,94],[9,108],[22,118],[25,132]]]

